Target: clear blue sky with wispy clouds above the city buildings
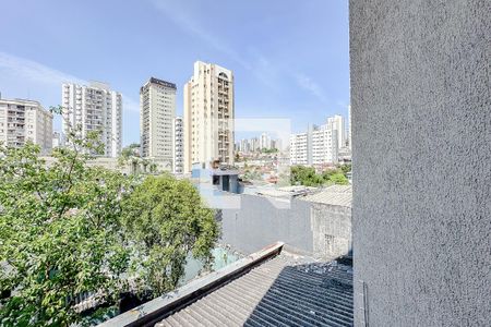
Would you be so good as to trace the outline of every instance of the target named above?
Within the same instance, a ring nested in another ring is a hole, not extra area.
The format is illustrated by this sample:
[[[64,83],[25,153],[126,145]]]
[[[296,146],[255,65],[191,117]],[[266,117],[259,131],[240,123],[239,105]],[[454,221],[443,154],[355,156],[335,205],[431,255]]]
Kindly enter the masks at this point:
[[[176,83],[181,114],[195,60],[233,71],[237,118],[287,118],[301,132],[347,116],[346,0],[15,0],[1,11],[2,97],[48,108],[63,81],[107,82],[123,94],[123,145],[139,142],[140,86]]]

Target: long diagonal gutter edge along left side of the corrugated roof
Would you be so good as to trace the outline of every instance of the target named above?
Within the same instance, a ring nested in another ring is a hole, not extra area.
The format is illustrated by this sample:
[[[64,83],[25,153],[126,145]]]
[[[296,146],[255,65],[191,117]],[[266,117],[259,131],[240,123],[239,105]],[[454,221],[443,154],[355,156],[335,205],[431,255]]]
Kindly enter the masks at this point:
[[[229,280],[248,272],[262,262],[276,256],[282,252],[283,242],[271,244],[227,267],[213,271],[202,278],[193,280],[172,292],[158,296],[149,302],[136,306],[112,319],[104,322],[99,327],[133,327],[152,326],[172,312],[180,310],[196,301],[200,296],[221,287]]]

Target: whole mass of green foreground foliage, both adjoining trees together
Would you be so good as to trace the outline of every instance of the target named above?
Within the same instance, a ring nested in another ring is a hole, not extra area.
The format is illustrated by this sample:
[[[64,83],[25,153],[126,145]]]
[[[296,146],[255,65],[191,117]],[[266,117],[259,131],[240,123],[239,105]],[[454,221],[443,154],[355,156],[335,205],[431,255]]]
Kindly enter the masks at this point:
[[[2,326],[83,323],[77,298],[118,306],[124,292],[176,287],[185,254],[207,262],[218,231],[188,182],[142,179],[88,167],[98,133],[57,148],[0,144],[0,322]]]

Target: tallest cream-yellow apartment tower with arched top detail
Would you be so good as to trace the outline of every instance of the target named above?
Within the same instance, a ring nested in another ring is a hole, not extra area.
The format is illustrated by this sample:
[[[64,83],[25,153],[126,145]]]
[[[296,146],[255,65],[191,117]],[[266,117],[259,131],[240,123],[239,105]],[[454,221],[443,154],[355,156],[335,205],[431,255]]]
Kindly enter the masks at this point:
[[[214,160],[233,165],[233,75],[214,63],[194,62],[184,85],[184,172]]]

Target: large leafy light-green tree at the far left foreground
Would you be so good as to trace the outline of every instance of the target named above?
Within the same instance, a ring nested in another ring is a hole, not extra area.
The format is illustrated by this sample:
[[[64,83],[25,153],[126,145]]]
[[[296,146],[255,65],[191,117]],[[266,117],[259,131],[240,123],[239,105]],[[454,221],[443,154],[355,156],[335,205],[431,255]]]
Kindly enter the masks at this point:
[[[0,289],[2,326],[59,326],[80,319],[75,299],[94,292],[113,303],[129,253],[120,197],[130,180],[89,168],[99,136],[72,138],[50,167],[39,147],[0,146]]]

